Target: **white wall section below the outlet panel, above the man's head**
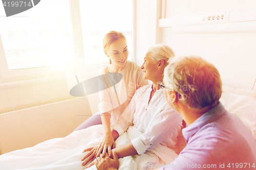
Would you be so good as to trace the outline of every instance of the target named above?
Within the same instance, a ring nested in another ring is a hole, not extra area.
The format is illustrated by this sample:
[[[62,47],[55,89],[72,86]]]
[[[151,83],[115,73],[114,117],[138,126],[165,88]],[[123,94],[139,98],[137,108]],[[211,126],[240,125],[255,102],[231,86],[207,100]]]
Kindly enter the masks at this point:
[[[256,33],[172,34],[163,42],[176,55],[199,55],[219,70],[224,85],[252,89],[256,79]]]

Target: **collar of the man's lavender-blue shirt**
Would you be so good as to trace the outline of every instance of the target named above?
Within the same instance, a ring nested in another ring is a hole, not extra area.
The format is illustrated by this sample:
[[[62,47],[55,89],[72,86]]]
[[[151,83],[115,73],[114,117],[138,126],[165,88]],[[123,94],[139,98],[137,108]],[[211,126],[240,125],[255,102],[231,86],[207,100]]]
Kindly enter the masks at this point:
[[[187,126],[186,128],[182,129],[182,134],[188,142],[188,139],[193,136],[197,131],[199,131],[203,126],[214,122],[216,119],[221,117],[226,112],[224,106],[219,102],[217,106],[210,109],[208,112],[204,113],[201,117],[196,119],[191,125]]]

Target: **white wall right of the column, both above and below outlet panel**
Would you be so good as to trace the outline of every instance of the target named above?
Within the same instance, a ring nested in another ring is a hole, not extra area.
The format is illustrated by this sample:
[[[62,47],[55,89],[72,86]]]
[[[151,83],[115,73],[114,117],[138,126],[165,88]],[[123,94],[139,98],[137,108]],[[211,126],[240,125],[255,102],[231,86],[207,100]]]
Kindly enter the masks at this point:
[[[167,0],[166,17],[256,8],[253,0]],[[252,89],[256,79],[256,32],[175,34],[162,28],[162,42],[177,56],[199,55],[219,70],[224,85]],[[255,90],[255,88],[254,88]]]

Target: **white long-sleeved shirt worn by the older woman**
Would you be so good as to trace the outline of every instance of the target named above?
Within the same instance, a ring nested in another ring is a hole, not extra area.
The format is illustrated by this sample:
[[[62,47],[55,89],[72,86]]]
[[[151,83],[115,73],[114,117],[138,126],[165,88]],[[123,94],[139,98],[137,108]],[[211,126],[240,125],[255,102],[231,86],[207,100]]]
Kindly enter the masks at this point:
[[[181,131],[182,118],[167,105],[163,89],[157,90],[148,104],[151,91],[152,85],[139,88],[112,128],[119,136],[130,126],[142,132],[131,141],[138,154],[154,150],[159,144],[178,153],[177,135]]]

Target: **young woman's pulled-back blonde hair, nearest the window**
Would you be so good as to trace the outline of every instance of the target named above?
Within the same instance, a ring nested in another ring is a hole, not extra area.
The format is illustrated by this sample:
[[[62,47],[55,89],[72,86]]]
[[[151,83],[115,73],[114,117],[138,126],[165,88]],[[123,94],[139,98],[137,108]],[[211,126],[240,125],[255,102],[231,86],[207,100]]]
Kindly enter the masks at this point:
[[[104,38],[103,38],[103,49],[104,49],[104,51],[105,51],[105,52],[108,52],[109,46],[110,46],[113,42],[119,40],[120,38],[124,38],[124,39],[126,40],[125,36],[124,36],[123,33],[121,33],[121,32],[110,31],[110,32],[106,33],[105,36],[104,36]],[[111,62],[111,60],[110,60],[110,64],[111,64],[111,63],[112,63],[112,62]]]

